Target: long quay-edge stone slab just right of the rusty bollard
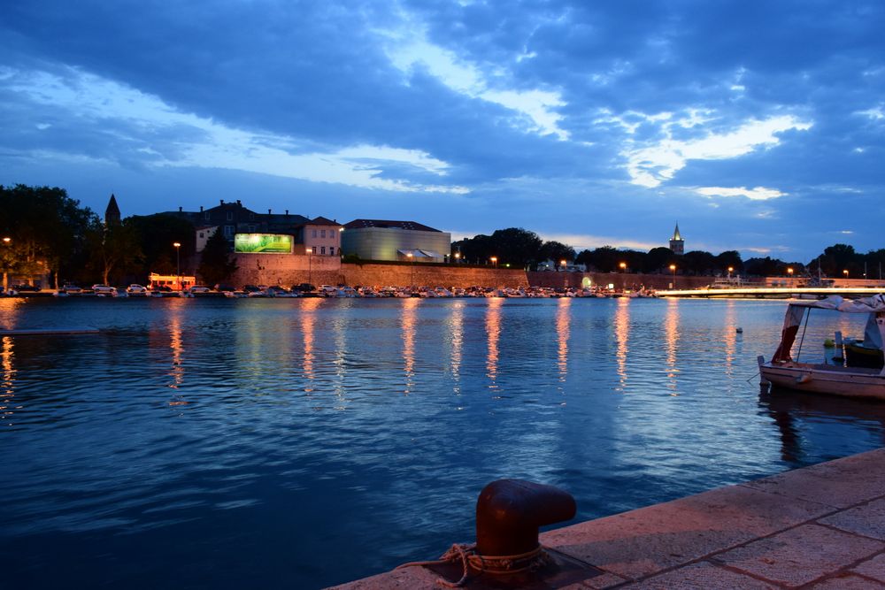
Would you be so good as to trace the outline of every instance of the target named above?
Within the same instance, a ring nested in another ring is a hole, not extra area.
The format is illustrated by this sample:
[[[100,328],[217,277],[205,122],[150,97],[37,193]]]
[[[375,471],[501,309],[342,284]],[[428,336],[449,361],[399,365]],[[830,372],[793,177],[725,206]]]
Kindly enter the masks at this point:
[[[731,486],[550,531],[541,542],[640,579],[830,512],[829,506]]]

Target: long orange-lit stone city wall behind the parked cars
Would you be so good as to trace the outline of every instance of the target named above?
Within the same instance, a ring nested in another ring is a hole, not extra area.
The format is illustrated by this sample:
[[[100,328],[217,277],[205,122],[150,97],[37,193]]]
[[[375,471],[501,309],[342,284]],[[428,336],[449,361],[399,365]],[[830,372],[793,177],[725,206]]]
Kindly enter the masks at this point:
[[[238,254],[239,266],[229,281],[243,285],[371,285],[427,287],[581,287],[588,279],[593,286],[615,289],[641,287],[666,289],[673,283],[672,274],[632,274],[623,272],[526,272],[492,266],[443,266],[437,264],[342,263],[338,257],[321,255]],[[711,277],[676,275],[675,288],[703,287]]]

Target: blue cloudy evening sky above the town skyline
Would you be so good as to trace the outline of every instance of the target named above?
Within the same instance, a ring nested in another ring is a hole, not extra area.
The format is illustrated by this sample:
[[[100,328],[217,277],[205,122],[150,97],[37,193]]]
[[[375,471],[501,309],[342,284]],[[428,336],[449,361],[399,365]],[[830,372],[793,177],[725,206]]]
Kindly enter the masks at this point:
[[[885,248],[881,0],[4,2],[0,184],[453,239]]]

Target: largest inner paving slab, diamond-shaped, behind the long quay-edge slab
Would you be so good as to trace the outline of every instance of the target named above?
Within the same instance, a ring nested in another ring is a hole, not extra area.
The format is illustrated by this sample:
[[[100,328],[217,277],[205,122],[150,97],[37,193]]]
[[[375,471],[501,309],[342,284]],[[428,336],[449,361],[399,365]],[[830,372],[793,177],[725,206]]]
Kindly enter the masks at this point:
[[[713,561],[795,587],[846,569],[882,550],[885,543],[881,541],[812,524],[753,541],[715,556]]]

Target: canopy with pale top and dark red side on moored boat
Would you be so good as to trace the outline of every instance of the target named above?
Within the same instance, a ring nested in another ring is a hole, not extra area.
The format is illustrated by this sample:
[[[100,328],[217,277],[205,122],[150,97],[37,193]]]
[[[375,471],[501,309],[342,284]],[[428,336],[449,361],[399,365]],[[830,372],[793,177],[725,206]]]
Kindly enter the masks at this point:
[[[809,308],[820,310],[835,310],[843,313],[867,313],[870,318],[866,323],[864,338],[879,349],[885,341],[885,295],[873,295],[861,299],[844,299],[839,295],[831,295],[820,301],[797,301],[787,306],[787,315],[783,318],[783,331],[781,332],[781,345],[774,352],[772,362],[790,361],[790,349],[796,341],[796,334],[805,310]],[[883,370],[885,372],[885,370]]]

